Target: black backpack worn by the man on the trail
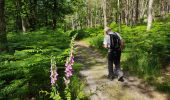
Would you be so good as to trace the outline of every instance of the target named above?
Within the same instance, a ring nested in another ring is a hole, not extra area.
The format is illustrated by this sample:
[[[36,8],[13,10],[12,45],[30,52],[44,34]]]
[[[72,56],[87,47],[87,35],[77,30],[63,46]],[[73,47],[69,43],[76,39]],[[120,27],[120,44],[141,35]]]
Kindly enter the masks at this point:
[[[110,35],[110,49],[113,50],[120,50],[121,48],[121,40],[117,33],[113,32],[114,34]]]

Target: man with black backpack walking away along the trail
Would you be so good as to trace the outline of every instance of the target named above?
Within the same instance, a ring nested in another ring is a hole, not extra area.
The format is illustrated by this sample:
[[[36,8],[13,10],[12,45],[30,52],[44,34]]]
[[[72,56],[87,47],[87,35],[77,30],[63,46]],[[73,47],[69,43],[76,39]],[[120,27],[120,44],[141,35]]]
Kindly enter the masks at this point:
[[[120,68],[120,58],[121,52],[124,48],[124,42],[122,37],[117,32],[112,32],[109,27],[104,29],[105,37],[104,37],[104,48],[108,49],[108,78],[113,80],[115,76],[118,77],[118,81],[123,80],[123,72]],[[115,68],[113,70],[113,63]]]

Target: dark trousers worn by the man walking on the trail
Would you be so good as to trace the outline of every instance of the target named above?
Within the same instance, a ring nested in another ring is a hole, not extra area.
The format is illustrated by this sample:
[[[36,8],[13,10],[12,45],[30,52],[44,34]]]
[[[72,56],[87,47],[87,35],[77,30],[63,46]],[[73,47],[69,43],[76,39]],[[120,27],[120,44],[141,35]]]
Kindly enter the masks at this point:
[[[113,76],[113,63],[115,65],[115,70],[120,69],[120,57],[121,57],[121,50],[109,50],[108,51],[108,76]]]

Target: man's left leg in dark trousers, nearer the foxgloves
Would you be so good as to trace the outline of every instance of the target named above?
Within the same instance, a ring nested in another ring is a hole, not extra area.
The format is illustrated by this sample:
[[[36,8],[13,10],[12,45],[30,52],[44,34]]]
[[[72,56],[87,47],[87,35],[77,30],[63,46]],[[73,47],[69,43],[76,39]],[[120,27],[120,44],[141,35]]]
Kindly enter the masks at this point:
[[[108,52],[108,77],[113,78],[113,52]]]

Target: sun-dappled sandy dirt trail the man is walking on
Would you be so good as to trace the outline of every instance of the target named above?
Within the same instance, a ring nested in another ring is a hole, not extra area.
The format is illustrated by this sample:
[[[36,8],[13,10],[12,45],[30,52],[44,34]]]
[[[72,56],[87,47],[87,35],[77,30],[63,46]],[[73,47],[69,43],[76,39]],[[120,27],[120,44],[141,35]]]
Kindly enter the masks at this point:
[[[85,42],[76,42],[76,60],[83,63],[80,74],[86,80],[85,92],[90,100],[168,100],[141,79],[127,76],[125,82],[107,79],[107,60]]]

